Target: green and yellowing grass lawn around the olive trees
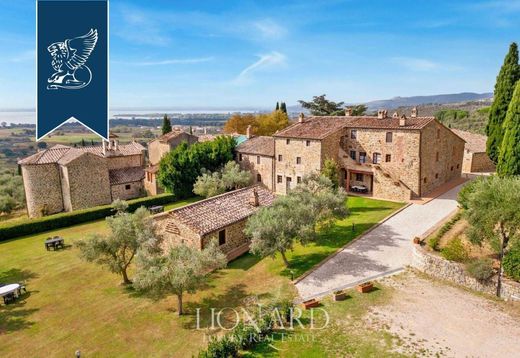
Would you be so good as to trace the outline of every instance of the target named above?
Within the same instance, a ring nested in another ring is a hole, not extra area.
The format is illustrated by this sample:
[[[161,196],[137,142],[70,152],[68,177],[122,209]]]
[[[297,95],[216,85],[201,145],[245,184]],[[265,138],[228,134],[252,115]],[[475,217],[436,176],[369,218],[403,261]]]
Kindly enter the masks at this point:
[[[348,219],[323,233],[317,243],[295,248],[289,256],[295,272],[303,273],[400,207],[358,197],[349,198],[348,203]],[[74,241],[106,230],[101,220],[0,243],[0,282],[25,281],[29,291],[16,304],[0,306],[3,357],[73,356],[77,349],[89,357],[189,357],[206,344],[206,332],[194,329],[197,308],[201,308],[204,327],[211,307],[238,307],[251,295],[261,300],[295,295],[280,258],[259,260],[248,254],[213,274],[203,290],[187,295],[187,315],[179,318],[174,297],[155,301],[139,295],[121,286],[117,275],[79,259]],[[64,237],[69,246],[58,252],[45,251],[43,240],[53,235]],[[322,357],[320,354],[326,350],[343,352],[339,355],[348,355],[352,350],[366,352],[367,356],[370,352],[382,352],[388,342],[380,333],[358,336],[359,332],[345,331],[340,324],[345,315],[355,310],[362,314],[372,300],[377,302],[382,295],[384,292],[376,291],[331,307],[337,325],[330,335],[322,332],[317,343],[276,344],[290,349],[295,357]],[[345,339],[346,348],[334,337]],[[375,342],[377,345],[371,348]],[[278,354],[269,349],[272,348],[260,346],[251,354]]]

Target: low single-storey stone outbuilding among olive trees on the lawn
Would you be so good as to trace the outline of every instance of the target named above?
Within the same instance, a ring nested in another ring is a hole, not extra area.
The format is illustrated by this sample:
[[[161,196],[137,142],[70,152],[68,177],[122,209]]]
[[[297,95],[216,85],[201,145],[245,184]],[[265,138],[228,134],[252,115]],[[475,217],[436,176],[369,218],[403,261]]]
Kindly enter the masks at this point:
[[[157,214],[154,222],[165,248],[186,244],[202,250],[214,240],[233,260],[249,250],[244,234],[247,219],[274,198],[268,189],[254,185]]]

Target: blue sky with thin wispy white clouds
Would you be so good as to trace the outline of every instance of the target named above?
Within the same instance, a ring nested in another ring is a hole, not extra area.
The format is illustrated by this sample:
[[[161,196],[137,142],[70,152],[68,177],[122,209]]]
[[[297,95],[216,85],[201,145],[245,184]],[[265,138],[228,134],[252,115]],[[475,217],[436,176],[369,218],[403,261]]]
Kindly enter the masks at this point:
[[[0,109],[35,106],[35,1],[0,0]],[[110,1],[112,108],[492,92],[520,0]]]

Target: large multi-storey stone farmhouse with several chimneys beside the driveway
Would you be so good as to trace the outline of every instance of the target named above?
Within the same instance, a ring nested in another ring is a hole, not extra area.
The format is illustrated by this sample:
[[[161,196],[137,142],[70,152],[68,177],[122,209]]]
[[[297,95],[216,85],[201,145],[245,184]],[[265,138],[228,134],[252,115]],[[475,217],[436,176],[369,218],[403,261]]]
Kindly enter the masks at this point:
[[[285,194],[327,159],[340,168],[349,190],[364,185],[374,197],[410,200],[460,178],[464,140],[434,117],[381,110],[377,116],[305,117],[272,137],[237,147],[237,161],[258,183]]]

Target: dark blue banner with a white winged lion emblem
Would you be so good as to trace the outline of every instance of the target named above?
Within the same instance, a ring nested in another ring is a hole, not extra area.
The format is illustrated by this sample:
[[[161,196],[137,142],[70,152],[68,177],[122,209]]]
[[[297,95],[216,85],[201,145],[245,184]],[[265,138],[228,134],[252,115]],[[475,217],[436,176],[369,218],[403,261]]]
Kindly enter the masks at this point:
[[[108,138],[108,2],[37,1],[36,138],[74,118]]]

